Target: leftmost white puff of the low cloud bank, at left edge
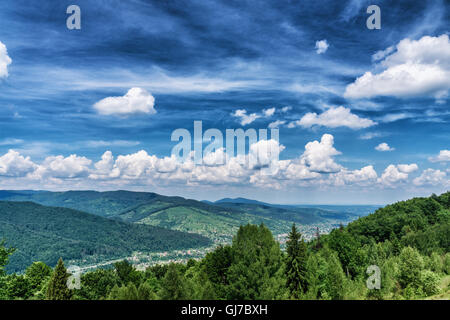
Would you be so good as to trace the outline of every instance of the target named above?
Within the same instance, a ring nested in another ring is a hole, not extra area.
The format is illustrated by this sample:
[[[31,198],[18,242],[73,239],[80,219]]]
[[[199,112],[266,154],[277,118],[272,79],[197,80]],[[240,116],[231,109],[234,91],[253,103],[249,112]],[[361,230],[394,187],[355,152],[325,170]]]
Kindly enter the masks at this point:
[[[19,152],[9,150],[0,157],[0,176],[22,177],[36,169],[30,157],[23,157]]]

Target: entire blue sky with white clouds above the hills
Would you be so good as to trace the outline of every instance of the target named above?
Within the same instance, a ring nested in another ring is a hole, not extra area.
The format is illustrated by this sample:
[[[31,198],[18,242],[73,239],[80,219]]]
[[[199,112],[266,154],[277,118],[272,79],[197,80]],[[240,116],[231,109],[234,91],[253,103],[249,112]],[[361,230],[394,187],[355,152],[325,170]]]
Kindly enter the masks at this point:
[[[66,28],[71,4],[81,30]],[[381,30],[366,28],[371,4]],[[0,187],[278,203],[444,192],[449,11],[444,0],[3,1]],[[172,131],[196,120],[277,125],[279,174],[173,164]]]

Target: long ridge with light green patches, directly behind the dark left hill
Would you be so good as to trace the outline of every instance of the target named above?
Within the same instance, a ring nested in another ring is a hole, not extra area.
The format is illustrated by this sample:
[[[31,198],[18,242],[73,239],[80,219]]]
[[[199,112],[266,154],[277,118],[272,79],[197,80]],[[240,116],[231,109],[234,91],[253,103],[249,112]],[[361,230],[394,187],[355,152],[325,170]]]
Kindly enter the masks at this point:
[[[241,210],[239,206],[222,207],[149,192],[2,191],[0,198],[8,201],[33,201],[46,206],[71,208],[125,222],[187,231],[208,236],[215,241],[231,240],[239,226],[247,223],[264,223],[275,234],[281,234],[289,230],[293,221],[305,224],[323,221],[320,218],[314,219],[311,215],[304,219],[301,217],[294,220],[280,219],[275,215],[264,214],[265,212],[256,210],[252,212],[246,208]]]

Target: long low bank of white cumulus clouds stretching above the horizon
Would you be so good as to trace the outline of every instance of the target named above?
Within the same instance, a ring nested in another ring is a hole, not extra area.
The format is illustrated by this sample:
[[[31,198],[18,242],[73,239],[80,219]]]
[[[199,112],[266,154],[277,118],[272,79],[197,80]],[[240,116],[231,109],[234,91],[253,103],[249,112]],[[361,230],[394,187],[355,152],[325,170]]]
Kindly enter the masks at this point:
[[[298,157],[280,160],[285,147],[276,140],[260,140],[249,146],[247,154],[228,155],[218,148],[194,160],[191,151],[184,162],[174,155],[158,157],[145,150],[114,156],[106,151],[97,162],[79,156],[50,156],[37,164],[29,157],[10,150],[0,156],[2,185],[37,187],[92,188],[94,186],[254,186],[270,189],[292,187],[392,188],[412,185],[409,174],[418,170],[415,163],[391,164],[381,176],[372,165],[350,170],[337,163],[341,152],[334,147],[334,137],[324,134],[320,140],[306,143]],[[268,170],[267,170],[268,169]],[[425,170],[414,185],[448,185],[446,172]]]

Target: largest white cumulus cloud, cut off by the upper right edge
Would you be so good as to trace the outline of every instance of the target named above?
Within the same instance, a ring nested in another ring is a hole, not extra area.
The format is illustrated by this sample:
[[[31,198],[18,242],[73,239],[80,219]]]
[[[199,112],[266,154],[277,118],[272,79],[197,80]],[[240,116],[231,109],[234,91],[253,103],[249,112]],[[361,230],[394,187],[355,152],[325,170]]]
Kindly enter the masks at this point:
[[[393,52],[393,53],[392,53]],[[395,50],[376,54],[383,59],[380,73],[366,72],[347,86],[347,98],[375,96],[410,97],[431,95],[446,97],[450,89],[450,41],[447,34],[403,39]]]

